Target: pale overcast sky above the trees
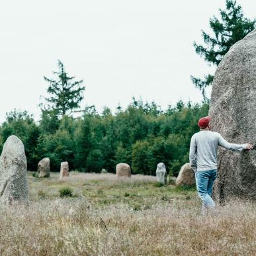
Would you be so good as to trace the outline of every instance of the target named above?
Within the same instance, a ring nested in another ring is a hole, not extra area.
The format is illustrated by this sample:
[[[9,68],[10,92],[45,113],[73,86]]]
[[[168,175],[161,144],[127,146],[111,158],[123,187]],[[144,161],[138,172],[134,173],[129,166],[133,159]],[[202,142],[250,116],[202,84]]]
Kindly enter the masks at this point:
[[[246,17],[256,1],[239,0]],[[58,59],[83,79],[82,106],[126,107],[132,97],[161,107],[200,102],[190,75],[213,72],[194,52],[224,0],[0,1],[0,123],[14,108],[40,118]]]

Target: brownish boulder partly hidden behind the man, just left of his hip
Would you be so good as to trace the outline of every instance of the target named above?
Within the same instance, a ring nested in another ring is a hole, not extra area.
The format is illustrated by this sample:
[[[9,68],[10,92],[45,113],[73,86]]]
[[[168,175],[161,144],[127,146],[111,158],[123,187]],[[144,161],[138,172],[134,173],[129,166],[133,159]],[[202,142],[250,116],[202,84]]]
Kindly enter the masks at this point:
[[[181,167],[181,171],[179,171],[179,175],[175,183],[177,186],[196,184],[194,170],[191,168],[190,163],[185,163],[185,165]]]

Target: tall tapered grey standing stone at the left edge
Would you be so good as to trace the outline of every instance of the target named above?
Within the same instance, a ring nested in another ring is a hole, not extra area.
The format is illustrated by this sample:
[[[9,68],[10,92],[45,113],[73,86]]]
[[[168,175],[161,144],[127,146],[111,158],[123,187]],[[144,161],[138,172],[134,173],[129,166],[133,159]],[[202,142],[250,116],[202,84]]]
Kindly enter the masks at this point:
[[[0,157],[0,202],[28,201],[26,155],[19,138],[10,136],[3,145]]]

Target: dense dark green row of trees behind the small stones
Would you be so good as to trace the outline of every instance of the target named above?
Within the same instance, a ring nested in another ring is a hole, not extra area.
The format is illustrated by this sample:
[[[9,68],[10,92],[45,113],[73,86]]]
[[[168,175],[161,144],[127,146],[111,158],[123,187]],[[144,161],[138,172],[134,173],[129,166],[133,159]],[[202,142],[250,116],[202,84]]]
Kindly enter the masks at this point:
[[[116,108],[115,114],[107,107],[101,114],[88,108],[79,118],[42,111],[39,123],[27,112],[15,110],[0,126],[0,149],[8,136],[21,138],[32,171],[40,159],[50,157],[52,171],[60,171],[60,163],[68,161],[70,169],[114,173],[116,164],[125,162],[132,173],[155,175],[157,163],[163,162],[169,173],[177,175],[189,161],[198,118],[207,114],[206,103],[179,101],[163,111],[155,103],[136,99],[126,110]]]

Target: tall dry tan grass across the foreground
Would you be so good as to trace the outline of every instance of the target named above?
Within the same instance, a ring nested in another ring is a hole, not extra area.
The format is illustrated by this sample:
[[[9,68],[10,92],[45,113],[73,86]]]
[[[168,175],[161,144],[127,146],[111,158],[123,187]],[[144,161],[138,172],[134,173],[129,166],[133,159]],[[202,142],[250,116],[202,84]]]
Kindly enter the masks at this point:
[[[84,198],[1,207],[1,255],[256,255],[256,211],[232,202],[207,216],[198,200],[92,208]]]

